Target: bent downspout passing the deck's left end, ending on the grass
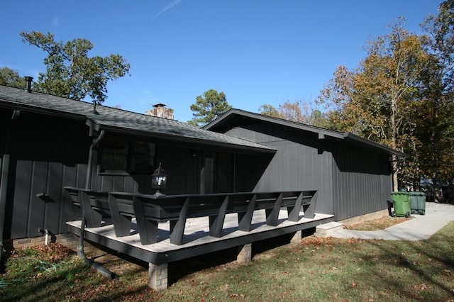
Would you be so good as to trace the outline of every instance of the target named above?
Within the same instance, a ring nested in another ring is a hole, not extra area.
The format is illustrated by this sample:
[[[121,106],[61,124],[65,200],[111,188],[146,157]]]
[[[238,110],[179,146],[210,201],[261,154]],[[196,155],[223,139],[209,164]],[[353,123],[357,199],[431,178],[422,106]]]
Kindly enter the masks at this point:
[[[92,188],[92,172],[93,172],[93,150],[96,145],[101,142],[101,140],[104,138],[104,130],[101,130],[101,133],[99,136],[93,140],[92,145],[90,145],[90,150],[89,150],[89,155],[88,155],[88,167],[87,167],[87,181],[85,182],[85,189],[91,189]],[[85,255],[84,252],[84,233],[85,233],[85,214],[84,211],[82,211],[82,219],[80,222],[80,235],[79,235],[79,243],[77,244],[77,256],[79,256],[80,259],[84,259],[85,263],[89,267],[93,267],[98,271],[100,274],[106,276],[109,278],[109,280],[116,279],[117,276],[114,272],[109,271],[109,269],[106,269],[103,267],[101,264],[98,264],[94,262],[92,259],[88,259],[87,255]]]

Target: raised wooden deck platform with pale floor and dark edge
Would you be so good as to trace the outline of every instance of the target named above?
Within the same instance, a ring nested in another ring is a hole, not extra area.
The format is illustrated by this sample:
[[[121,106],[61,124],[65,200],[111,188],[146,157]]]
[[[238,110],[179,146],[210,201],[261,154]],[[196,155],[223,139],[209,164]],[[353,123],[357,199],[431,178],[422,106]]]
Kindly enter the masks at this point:
[[[150,245],[142,245],[135,223],[131,224],[131,235],[116,237],[114,226],[109,219],[104,221],[98,228],[85,228],[84,237],[99,245],[109,247],[112,250],[149,262],[150,264],[167,264],[189,257],[204,255],[210,252],[225,250],[231,247],[266,240],[279,235],[297,233],[301,230],[314,228],[316,225],[333,221],[333,215],[316,213],[314,218],[304,218],[296,222],[287,220],[287,210],[279,211],[279,220],[276,226],[266,224],[265,210],[255,211],[253,215],[252,229],[250,232],[238,230],[238,218],[236,214],[226,215],[223,223],[221,237],[209,235],[209,218],[189,218],[186,222],[182,245],[170,243],[170,223],[160,223],[157,232],[157,242]],[[69,230],[75,235],[80,235],[81,221],[67,222]]]

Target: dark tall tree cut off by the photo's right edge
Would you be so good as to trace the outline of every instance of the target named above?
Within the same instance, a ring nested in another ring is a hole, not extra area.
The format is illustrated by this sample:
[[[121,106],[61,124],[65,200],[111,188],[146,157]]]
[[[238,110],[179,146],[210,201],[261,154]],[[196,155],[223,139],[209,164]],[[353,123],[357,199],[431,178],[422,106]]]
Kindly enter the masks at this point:
[[[423,78],[424,104],[419,118],[423,140],[421,157],[424,176],[437,180],[454,179],[454,0],[444,1],[438,16],[421,24],[428,34],[426,47],[433,63]]]

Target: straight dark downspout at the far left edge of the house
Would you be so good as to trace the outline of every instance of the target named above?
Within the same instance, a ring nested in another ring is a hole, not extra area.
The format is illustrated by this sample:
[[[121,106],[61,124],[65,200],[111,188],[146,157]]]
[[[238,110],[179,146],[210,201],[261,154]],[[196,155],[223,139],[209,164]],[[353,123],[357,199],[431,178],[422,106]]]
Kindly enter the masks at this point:
[[[11,116],[11,123],[6,126],[5,135],[5,149],[4,155],[1,159],[1,177],[0,177],[0,263],[3,255],[3,233],[5,227],[5,213],[6,213],[6,194],[8,193],[8,179],[9,179],[9,162],[11,153],[11,132],[13,130],[12,123],[17,121],[21,111],[14,110]]]

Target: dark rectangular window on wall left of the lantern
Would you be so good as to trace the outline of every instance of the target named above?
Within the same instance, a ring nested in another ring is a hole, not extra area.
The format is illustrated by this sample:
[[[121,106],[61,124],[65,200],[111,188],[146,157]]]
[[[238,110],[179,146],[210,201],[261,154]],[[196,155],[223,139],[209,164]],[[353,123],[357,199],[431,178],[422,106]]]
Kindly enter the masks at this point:
[[[99,155],[100,173],[152,174],[155,144],[106,138]]]

